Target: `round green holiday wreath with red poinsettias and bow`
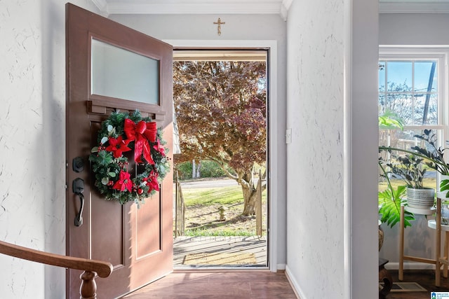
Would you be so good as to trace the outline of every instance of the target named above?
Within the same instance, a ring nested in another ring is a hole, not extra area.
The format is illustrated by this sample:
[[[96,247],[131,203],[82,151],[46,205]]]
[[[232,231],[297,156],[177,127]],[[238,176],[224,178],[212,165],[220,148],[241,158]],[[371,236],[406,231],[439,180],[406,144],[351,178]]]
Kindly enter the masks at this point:
[[[139,111],[113,112],[102,122],[98,146],[89,156],[95,186],[106,200],[144,203],[146,197],[159,191],[159,183],[170,169],[164,144],[162,131],[151,118],[142,118]],[[135,167],[139,169],[134,177],[123,155],[127,151],[134,151]]]

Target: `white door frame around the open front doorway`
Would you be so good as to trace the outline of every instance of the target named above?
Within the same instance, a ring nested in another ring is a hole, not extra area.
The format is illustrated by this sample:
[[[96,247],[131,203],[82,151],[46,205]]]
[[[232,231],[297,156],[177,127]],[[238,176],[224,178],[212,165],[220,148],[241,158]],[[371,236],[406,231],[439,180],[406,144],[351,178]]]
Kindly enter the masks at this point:
[[[272,272],[278,270],[278,165],[276,158],[278,157],[277,144],[285,142],[283,134],[271,134],[278,132],[277,125],[277,41],[275,40],[254,40],[254,41],[232,41],[232,40],[170,40],[162,39],[162,41],[173,46],[173,50],[177,48],[266,48],[268,51],[268,192],[269,192],[269,217],[268,217],[268,267]],[[273,174],[273,175],[272,175]]]

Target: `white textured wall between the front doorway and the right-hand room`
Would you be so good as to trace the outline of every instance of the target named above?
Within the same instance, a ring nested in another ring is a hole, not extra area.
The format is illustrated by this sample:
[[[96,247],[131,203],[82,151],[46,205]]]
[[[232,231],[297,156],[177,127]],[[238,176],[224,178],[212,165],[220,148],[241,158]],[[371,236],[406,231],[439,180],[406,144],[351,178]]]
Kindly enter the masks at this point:
[[[287,265],[301,298],[344,298],[343,6],[300,4],[287,29]]]

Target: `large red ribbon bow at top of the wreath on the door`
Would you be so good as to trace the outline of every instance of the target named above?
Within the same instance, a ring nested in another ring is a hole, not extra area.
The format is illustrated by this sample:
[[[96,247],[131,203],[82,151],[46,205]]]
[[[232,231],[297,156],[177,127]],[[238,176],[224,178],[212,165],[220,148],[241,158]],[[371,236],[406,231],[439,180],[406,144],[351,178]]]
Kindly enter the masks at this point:
[[[125,124],[123,130],[125,131],[126,137],[130,140],[135,140],[134,144],[134,160],[136,163],[142,163],[140,156],[143,157],[149,164],[154,165],[154,160],[152,159],[151,150],[149,147],[150,142],[156,141],[157,127],[156,123],[150,122],[145,123],[145,121],[140,120],[139,123],[134,123],[133,120],[129,118],[125,119]]]

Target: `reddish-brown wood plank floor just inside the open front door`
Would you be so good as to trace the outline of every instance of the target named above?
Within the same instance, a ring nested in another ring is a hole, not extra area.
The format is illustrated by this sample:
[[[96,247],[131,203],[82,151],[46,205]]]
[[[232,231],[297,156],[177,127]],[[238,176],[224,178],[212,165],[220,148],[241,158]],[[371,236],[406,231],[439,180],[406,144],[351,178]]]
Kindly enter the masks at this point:
[[[284,272],[255,271],[175,271],[126,299],[297,299]]]

